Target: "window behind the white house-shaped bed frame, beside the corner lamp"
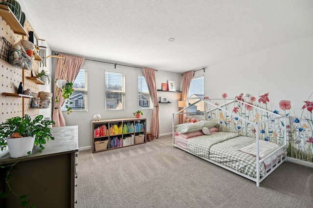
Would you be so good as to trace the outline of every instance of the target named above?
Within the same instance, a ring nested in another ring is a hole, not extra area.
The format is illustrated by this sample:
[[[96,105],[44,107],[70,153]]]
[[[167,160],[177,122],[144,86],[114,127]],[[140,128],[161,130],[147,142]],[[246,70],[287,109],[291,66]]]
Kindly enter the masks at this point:
[[[204,98],[204,77],[192,79],[188,91],[188,103],[193,104],[198,101],[198,98]],[[202,117],[204,111],[204,102],[201,101],[190,108],[188,112],[192,113],[192,117]],[[191,115],[191,114],[189,114]]]

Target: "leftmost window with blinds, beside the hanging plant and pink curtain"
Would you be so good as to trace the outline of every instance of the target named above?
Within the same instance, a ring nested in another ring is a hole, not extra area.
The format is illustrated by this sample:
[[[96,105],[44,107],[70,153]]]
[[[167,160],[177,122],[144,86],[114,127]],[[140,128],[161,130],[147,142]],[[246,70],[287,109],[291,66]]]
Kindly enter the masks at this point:
[[[88,84],[87,84],[87,69],[80,69],[77,77],[73,82],[74,92],[71,95],[71,102],[69,106],[73,112],[88,110]],[[65,102],[66,103],[66,102]],[[65,103],[62,110],[66,110]]]

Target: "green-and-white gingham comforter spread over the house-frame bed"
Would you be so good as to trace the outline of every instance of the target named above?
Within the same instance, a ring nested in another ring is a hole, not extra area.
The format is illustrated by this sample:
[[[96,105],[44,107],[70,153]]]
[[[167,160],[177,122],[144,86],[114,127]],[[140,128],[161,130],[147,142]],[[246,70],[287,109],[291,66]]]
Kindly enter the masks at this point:
[[[236,133],[217,132],[188,139],[188,150],[250,177],[256,178],[256,157],[238,149],[255,142],[254,138],[238,136]],[[260,176],[265,175],[260,163]]]

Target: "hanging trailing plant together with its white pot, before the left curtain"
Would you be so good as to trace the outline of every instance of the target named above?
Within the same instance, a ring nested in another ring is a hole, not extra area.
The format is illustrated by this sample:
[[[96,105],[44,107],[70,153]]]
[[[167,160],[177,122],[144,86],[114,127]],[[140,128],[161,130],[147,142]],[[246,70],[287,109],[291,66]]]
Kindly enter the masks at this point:
[[[55,81],[57,85],[57,92],[61,91],[62,92],[62,97],[65,99],[65,108],[67,109],[67,114],[72,112],[72,108],[70,107],[70,104],[72,103],[71,95],[74,91],[73,89],[73,83],[69,82],[68,80],[59,80],[56,79]],[[55,96],[55,103],[58,105],[60,102],[58,98],[58,94]]]

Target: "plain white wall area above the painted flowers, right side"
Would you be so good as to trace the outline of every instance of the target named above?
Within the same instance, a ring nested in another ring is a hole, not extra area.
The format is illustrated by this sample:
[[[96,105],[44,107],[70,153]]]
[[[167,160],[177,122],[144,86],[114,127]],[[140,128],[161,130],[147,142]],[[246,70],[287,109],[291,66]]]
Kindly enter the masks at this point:
[[[246,92],[257,99],[269,92],[272,108],[291,101],[300,113],[313,92],[313,36],[271,47],[208,67],[204,73],[205,96],[235,98]]]

